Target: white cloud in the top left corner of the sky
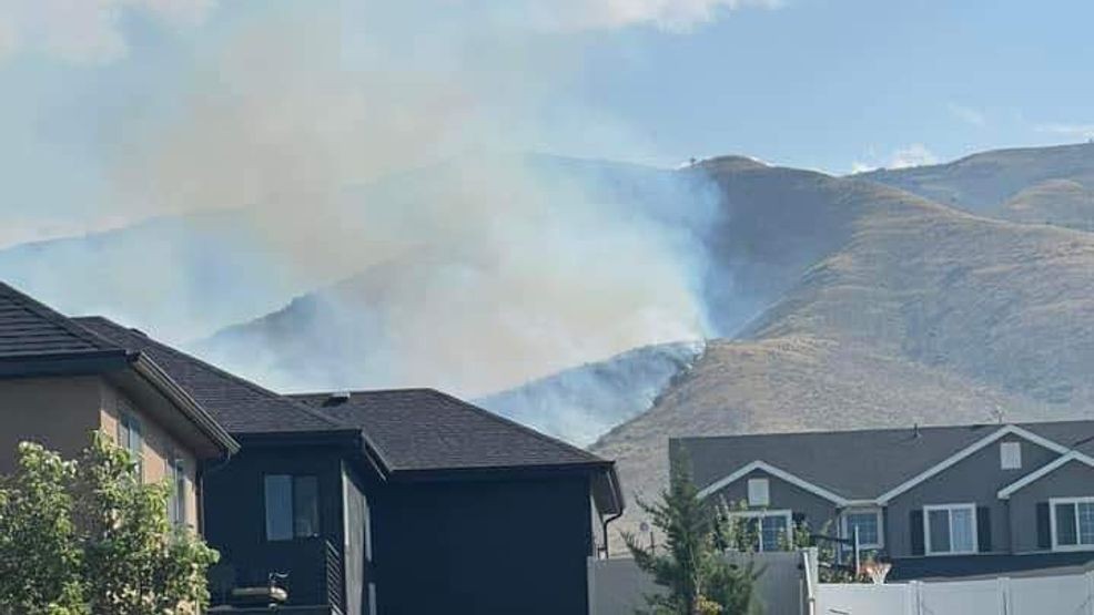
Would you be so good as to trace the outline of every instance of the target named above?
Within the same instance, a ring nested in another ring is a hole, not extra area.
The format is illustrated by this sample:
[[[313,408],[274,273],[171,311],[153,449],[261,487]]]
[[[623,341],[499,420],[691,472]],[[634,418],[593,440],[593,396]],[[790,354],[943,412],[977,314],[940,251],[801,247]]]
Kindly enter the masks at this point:
[[[172,25],[202,21],[216,0],[0,0],[0,60],[40,53],[100,64],[129,51],[123,19],[142,14]]]

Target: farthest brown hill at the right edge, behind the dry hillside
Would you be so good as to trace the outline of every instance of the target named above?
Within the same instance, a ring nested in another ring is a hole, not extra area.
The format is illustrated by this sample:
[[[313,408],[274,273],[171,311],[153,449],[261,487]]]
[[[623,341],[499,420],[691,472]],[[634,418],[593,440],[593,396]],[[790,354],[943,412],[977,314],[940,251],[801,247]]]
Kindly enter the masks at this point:
[[[1094,144],[996,150],[858,177],[990,217],[1094,228]]]

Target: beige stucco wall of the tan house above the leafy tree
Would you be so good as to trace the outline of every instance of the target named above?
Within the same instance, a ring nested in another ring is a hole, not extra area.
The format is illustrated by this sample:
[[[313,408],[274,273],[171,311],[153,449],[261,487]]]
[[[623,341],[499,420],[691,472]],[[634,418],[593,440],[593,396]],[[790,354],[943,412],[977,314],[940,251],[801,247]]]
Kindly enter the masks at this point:
[[[65,458],[75,457],[88,445],[91,432],[101,429],[111,439],[118,435],[118,412],[123,406],[121,391],[95,376],[22,378],[0,380],[0,473],[14,469],[19,442],[40,442]],[[144,480],[160,481],[165,476],[165,459],[170,451],[185,460],[189,489],[186,521],[197,519],[196,463],[194,457],[171,438],[155,421],[134,403],[132,408],[144,427]]]

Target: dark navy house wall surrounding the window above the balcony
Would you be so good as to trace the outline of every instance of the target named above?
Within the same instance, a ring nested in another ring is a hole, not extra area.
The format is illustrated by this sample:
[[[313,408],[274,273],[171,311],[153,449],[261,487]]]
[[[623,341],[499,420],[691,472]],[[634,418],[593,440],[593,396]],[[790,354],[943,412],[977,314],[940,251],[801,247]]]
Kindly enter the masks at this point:
[[[321,536],[266,541],[263,476],[280,473],[318,478]],[[204,489],[205,539],[221,553],[217,576],[234,578],[236,585],[264,585],[271,572],[287,573],[284,585],[291,605],[341,606],[343,488],[337,452],[245,449],[226,467],[206,472]]]

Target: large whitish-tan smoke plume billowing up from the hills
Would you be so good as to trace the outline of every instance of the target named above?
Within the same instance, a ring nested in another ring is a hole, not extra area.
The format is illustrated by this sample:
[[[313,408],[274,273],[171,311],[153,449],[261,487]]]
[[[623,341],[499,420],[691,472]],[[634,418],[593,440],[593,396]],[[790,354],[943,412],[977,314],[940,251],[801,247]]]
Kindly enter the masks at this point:
[[[241,23],[201,52],[171,111],[113,152],[133,211],[251,206],[246,240],[280,255],[274,270],[313,288],[356,276],[313,311],[320,332],[301,351],[322,356],[315,373],[278,372],[253,347],[214,357],[275,385],[473,394],[701,337],[693,232],[716,191],[666,174],[662,198],[641,203],[612,194],[610,176],[507,153],[579,132],[649,150],[566,100],[573,40],[445,8],[421,31],[421,10],[347,3]]]

